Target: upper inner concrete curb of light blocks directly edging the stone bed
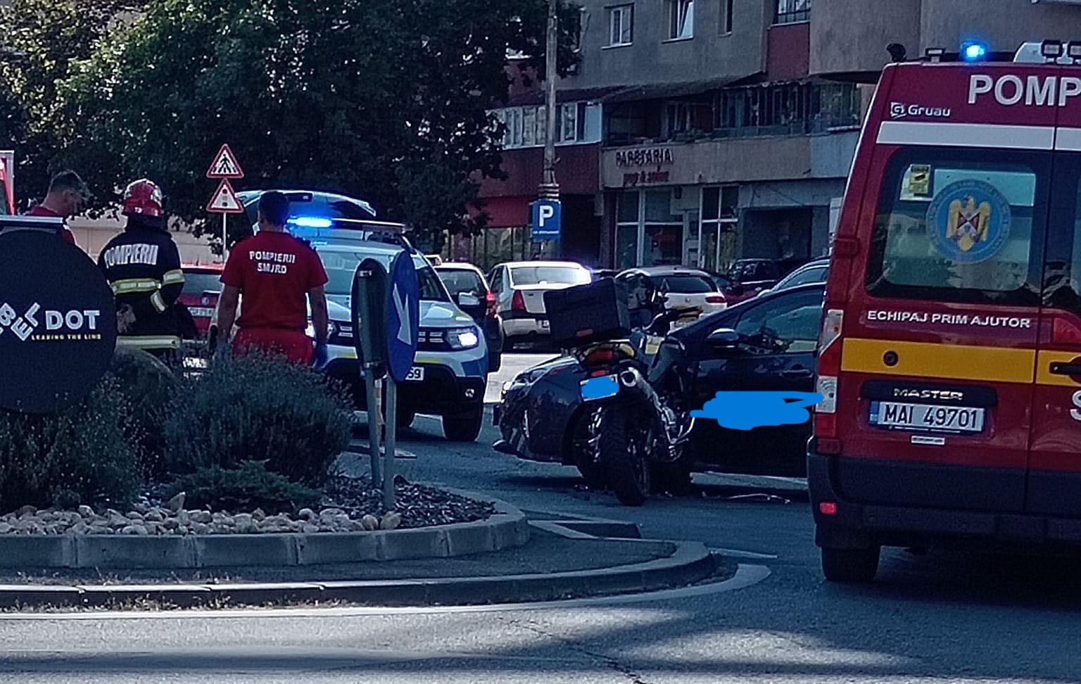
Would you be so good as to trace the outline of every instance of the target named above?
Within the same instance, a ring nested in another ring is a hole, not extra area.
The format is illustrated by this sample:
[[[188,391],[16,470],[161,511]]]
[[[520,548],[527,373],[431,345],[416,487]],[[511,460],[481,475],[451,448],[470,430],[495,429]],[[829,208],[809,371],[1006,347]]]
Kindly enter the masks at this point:
[[[457,493],[457,492],[455,492]],[[0,536],[0,567],[191,568],[319,565],[359,561],[448,558],[519,547],[529,541],[525,514],[505,501],[495,515],[471,523],[416,529],[318,534],[138,537]]]

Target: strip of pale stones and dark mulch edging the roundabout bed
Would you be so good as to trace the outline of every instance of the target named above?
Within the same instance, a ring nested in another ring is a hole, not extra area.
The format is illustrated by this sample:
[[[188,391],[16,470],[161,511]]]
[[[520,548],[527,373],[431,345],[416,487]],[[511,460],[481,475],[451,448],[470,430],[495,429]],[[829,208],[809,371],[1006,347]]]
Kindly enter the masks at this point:
[[[209,535],[321,532],[364,532],[448,525],[484,520],[495,506],[457,494],[395,479],[397,506],[383,508],[383,492],[366,478],[337,475],[325,487],[319,510],[295,515],[253,511],[209,511],[184,508],[184,495],[162,501],[152,493],[131,510],[38,510],[24,506],[0,517],[0,535]]]

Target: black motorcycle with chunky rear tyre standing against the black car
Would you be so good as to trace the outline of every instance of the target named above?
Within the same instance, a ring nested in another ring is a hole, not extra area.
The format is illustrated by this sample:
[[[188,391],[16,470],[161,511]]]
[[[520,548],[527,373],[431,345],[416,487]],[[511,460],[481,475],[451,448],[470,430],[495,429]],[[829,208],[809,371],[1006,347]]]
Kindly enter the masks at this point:
[[[666,310],[627,339],[569,350],[589,375],[580,383],[586,413],[579,470],[603,479],[625,506],[644,504],[654,485],[675,488],[690,479],[685,447],[694,418],[690,375],[681,363],[686,350],[667,334],[695,311]]]

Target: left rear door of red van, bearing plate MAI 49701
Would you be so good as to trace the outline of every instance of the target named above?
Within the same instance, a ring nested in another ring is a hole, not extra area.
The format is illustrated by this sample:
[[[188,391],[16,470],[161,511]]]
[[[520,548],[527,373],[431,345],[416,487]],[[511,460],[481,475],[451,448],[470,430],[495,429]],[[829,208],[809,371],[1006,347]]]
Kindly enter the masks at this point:
[[[936,129],[943,145],[875,150],[838,485],[855,501],[1019,512],[1051,152],[947,146],[951,125]]]

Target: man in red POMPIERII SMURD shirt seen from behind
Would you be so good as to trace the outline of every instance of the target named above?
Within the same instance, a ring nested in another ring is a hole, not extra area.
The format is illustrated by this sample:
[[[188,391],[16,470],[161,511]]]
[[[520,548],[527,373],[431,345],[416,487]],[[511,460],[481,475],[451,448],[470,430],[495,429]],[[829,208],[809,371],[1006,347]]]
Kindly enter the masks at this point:
[[[277,191],[259,197],[259,231],[232,249],[222,273],[218,331],[223,344],[232,332],[238,303],[242,304],[233,353],[250,349],[285,354],[293,363],[320,366],[326,362],[326,271],[316,251],[285,232],[289,199]],[[311,303],[316,347],[304,331],[308,325],[305,298]]]

